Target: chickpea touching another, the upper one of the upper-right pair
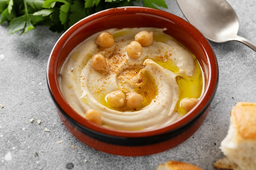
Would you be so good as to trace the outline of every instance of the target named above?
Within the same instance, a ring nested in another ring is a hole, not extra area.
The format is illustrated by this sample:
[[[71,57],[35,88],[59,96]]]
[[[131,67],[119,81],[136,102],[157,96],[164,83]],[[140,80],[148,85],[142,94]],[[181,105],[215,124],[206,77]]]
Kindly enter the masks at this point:
[[[153,43],[153,32],[140,31],[135,35],[135,41],[139,42],[141,46],[150,46]]]

